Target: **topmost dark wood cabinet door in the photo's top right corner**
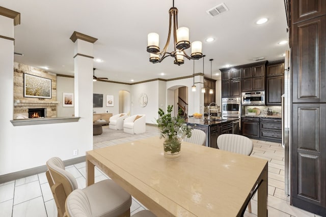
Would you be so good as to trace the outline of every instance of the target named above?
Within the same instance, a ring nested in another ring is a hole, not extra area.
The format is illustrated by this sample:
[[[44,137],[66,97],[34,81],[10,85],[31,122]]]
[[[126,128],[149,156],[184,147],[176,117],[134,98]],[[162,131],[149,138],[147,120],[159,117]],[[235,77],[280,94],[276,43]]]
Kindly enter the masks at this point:
[[[326,14],[326,0],[292,0],[292,23],[301,22]]]

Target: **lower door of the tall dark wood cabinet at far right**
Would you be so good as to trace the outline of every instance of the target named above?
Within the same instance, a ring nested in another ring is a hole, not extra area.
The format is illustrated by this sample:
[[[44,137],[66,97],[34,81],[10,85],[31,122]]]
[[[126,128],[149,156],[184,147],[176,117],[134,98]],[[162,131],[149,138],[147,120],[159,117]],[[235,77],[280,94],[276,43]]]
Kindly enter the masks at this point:
[[[326,216],[326,104],[292,108],[291,202]]]

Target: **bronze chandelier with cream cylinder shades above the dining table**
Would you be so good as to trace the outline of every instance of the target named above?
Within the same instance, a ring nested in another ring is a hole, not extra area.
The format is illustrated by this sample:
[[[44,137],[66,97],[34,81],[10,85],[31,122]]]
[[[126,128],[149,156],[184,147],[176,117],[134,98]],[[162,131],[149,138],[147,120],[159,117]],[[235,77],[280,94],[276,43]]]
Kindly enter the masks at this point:
[[[149,61],[153,64],[160,63],[167,56],[174,58],[174,64],[180,66],[184,63],[183,57],[187,59],[200,59],[203,57],[202,54],[202,42],[194,41],[191,45],[189,42],[189,29],[187,27],[178,28],[178,9],[173,7],[169,10],[170,22],[169,22],[169,35],[167,43],[164,48],[160,51],[159,49],[159,36],[157,33],[149,33],[147,36],[147,52],[150,53]],[[173,22],[173,23],[172,23]],[[174,50],[168,52],[170,39],[171,39],[171,26],[173,24],[173,48]],[[192,53],[189,56],[185,50],[192,47]]]

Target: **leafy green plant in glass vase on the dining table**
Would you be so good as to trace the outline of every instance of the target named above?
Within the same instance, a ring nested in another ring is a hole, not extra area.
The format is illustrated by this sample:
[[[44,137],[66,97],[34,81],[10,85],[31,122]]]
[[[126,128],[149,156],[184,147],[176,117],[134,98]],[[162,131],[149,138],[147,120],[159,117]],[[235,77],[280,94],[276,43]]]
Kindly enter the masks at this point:
[[[173,105],[168,106],[167,113],[158,109],[159,118],[156,120],[160,129],[160,139],[164,138],[164,156],[175,159],[180,157],[181,141],[183,138],[192,136],[192,129],[187,126],[185,120],[180,117],[180,109],[176,117],[171,116]]]

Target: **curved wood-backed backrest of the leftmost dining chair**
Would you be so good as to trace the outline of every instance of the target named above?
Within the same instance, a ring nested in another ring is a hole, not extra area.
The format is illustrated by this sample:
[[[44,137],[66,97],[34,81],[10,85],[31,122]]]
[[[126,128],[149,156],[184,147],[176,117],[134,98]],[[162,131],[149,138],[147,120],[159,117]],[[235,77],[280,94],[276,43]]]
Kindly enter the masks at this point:
[[[65,212],[65,201],[67,196],[75,189],[78,189],[76,179],[65,170],[65,165],[60,158],[51,158],[46,162],[48,171],[47,179],[56,201],[58,215],[63,216]],[[49,180],[51,179],[51,180]]]

